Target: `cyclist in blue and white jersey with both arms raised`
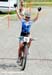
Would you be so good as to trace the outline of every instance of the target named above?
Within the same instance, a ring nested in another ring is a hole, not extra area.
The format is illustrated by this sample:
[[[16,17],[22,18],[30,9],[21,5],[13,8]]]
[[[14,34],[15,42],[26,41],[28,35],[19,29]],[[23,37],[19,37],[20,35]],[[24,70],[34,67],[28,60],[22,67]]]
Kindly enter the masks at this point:
[[[40,9],[38,8],[38,11],[40,11],[40,10],[41,10],[41,8]],[[19,18],[19,20],[21,21],[21,24],[22,24],[22,29],[21,29],[20,36],[23,36],[23,37],[24,36],[30,36],[31,25],[32,25],[33,22],[35,22],[38,19],[39,12],[37,12],[36,17],[33,20],[31,20],[30,12],[25,12],[25,14],[24,14],[25,17],[21,16],[18,13],[17,8],[16,8],[16,12],[17,12],[17,16],[18,16],[18,18]],[[22,39],[23,38],[21,38],[19,40],[18,59],[20,59],[20,56],[21,56],[21,48],[23,47]],[[29,42],[29,47],[30,47],[30,45],[31,45],[31,40]]]

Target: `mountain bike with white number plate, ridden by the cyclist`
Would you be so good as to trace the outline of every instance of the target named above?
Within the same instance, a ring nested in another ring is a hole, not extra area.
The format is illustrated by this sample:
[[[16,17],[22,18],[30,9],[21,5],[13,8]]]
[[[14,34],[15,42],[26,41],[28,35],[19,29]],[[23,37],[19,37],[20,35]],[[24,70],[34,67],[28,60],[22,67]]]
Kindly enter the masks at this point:
[[[30,37],[23,37],[23,47],[21,49],[21,57],[20,57],[20,67],[21,70],[25,70],[26,67],[26,62],[27,62],[27,55],[28,55],[28,43],[29,41],[33,41],[34,39],[30,38]]]

